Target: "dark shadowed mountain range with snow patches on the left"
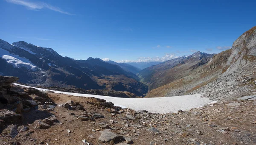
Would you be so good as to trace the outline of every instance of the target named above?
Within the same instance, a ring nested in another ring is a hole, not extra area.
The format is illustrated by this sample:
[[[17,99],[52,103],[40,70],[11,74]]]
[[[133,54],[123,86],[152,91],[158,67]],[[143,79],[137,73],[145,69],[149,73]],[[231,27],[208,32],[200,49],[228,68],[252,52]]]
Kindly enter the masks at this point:
[[[52,48],[26,42],[12,45],[0,39],[0,74],[17,76],[31,86],[106,89],[143,96],[148,91],[134,73],[99,58],[75,60],[62,57]]]

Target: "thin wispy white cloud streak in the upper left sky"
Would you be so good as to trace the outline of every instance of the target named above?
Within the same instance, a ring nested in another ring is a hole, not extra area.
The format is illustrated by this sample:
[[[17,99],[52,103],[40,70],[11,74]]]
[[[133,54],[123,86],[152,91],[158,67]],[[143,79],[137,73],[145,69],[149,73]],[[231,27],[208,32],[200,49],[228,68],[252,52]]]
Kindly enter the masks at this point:
[[[16,4],[16,5],[26,6],[27,8],[29,8],[31,10],[39,10],[39,9],[47,8],[49,10],[57,11],[62,14],[75,15],[75,14],[71,14],[69,12],[63,11],[63,10],[61,10],[61,8],[51,6],[51,5],[49,5],[47,3],[43,3],[43,2],[31,2],[31,1],[27,1],[27,0],[6,0],[6,1],[9,3]]]

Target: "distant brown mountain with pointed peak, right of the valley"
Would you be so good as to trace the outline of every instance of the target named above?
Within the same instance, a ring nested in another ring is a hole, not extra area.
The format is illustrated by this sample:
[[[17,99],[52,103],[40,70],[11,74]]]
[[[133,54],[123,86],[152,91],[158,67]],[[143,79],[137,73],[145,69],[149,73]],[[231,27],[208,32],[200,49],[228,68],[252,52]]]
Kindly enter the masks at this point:
[[[213,54],[198,51],[190,56],[182,56],[145,68],[140,71],[139,75],[143,78],[143,82],[148,84],[150,90],[155,89],[183,78],[192,70],[206,64],[212,56]]]

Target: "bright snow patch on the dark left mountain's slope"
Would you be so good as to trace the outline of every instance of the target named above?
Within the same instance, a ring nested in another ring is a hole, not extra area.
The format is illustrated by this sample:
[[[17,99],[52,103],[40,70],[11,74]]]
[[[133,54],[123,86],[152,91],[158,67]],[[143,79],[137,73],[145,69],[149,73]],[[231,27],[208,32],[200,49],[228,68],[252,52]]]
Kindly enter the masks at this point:
[[[5,59],[7,61],[7,63],[12,64],[14,67],[26,67],[29,70],[38,70],[38,67],[28,63],[28,62],[23,62],[20,59],[16,59],[13,56],[7,56],[7,55],[3,55],[2,56],[3,59]]]

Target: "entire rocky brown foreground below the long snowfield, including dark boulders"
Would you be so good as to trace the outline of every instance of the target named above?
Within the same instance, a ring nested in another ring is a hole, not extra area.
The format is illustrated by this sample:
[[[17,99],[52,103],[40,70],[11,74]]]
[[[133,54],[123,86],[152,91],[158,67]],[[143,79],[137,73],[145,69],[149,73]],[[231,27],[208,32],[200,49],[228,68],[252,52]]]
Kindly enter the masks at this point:
[[[0,76],[1,145],[256,144],[255,95],[155,114],[12,86],[17,79]]]

